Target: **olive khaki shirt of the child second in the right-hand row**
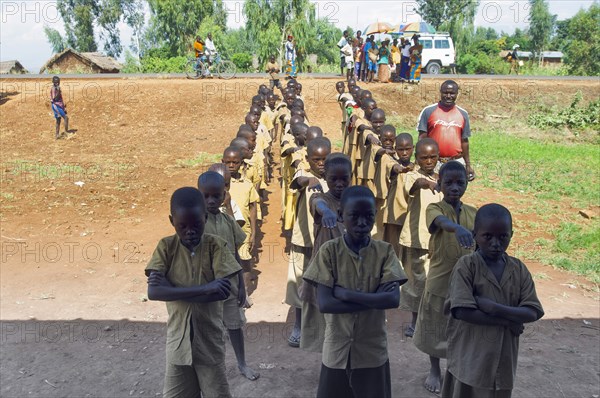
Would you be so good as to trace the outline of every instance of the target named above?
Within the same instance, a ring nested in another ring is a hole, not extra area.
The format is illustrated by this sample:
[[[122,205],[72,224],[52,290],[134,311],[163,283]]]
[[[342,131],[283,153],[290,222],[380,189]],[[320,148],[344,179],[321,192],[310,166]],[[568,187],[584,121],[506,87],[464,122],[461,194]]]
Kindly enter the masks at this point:
[[[459,258],[473,252],[471,249],[461,248],[454,233],[436,228],[433,225],[433,220],[439,216],[444,216],[472,231],[475,224],[475,213],[477,213],[477,209],[463,203],[461,204],[459,219],[452,205],[443,200],[432,203],[427,207],[425,218],[431,232],[431,238],[429,240],[429,272],[427,273],[425,290],[431,292],[431,294],[445,298],[448,294],[452,268],[454,268]]]

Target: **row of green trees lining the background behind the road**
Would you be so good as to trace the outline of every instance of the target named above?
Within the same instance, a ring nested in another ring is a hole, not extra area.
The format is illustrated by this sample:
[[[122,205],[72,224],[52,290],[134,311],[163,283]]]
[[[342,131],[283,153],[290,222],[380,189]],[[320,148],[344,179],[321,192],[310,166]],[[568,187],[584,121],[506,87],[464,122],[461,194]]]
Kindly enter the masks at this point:
[[[529,28],[507,35],[492,28],[475,29],[478,0],[416,1],[424,21],[450,33],[463,71],[489,73],[489,64],[499,61],[500,50],[519,44],[521,50],[538,56],[545,50],[562,51],[571,74],[600,73],[597,2],[570,19],[557,21],[548,10],[548,0],[530,0]],[[58,0],[57,5],[65,35],[45,28],[55,52],[66,47],[97,51],[100,42],[104,52],[118,57],[125,51],[118,24],[126,23],[134,33],[130,50],[142,63],[150,62],[153,67],[160,64],[157,59],[176,57],[179,59],[175,63],[182,64],[193,38],[197,34],[205,37],[208,32],[212,32],[220,50],[242,69],[249,67],[252,55],[264,63],[269,55],[280,54],[288,33],[296,37],[301,68],[309,66],[308,54],[316,54],[319,64],[337,64],[338,60],[335,43],[341,30],[317,18],[315,5],[309,0],[246,0],[242,10],[246,24],[235,30],[227,29],[223,0]],[[147,21],[146,14],[150,16]],[[479,66],[467,68],[475,63]]]

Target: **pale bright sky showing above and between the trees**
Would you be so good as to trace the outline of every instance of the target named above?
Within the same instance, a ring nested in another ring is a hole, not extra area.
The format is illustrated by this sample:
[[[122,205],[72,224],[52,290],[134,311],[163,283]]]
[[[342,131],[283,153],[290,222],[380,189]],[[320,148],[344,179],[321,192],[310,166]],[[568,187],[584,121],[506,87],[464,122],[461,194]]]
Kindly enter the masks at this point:
[[[244,25],[243,3],[243,0],[224,1],[228,27],[238,28]],[[318,17],[328,19],[341,29],[350,26],[354,30],[363,30],[369,23],[377,21],[393,25],[420,21],[414,11],[414,1],[320,0],[313,3]],[[592,3],[592,0],[548,0],[550,12],[556,14],[559,20],[572,17],[580,9],[589,8]],[[146,14],[149,14],[148,10]],[[512,33],[515,28],[523,29],[528,26],[528,15],[529,2],[526,0],[482,0],[475,17],[475,26]],[[43,30],[45,25],[64,33],[56,0],[0,0],[0,60],[17,59],[26,69],[37,73],[52,56],[52,48]],[[119,27],[121,43],[128,47],[132,31],[125,24],[120,24]],[[99,44],[99,47],[102,45]],[[123,58],[121,56],[120,60]]]

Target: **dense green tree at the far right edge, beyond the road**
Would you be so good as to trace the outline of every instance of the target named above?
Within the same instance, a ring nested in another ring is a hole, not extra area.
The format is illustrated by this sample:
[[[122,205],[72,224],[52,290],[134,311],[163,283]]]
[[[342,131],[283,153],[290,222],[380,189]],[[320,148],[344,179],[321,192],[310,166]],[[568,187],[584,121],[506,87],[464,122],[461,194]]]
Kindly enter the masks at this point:
[[[564,52],[569,73],[600,75],[600,5],[557,23],[557,49]]]

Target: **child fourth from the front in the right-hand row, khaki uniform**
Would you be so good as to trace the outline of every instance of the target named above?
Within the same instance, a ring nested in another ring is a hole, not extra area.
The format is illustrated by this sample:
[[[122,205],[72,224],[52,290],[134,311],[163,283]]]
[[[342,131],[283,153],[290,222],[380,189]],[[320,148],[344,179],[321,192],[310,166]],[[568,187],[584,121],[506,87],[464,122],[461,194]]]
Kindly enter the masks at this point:
[[[404,179],[406,173],[413,171],[415,168],[414,163],[410,161],[414,149],[412,135],[408,133],[398,134],[395,149],[398,162],[392,165],[390,171],[386,172],[389,173],[390,188],[387,193],[383,215],[383,240],[394,247],[398,258],[402,258],[400,233],[408,208],[408,197],[404,193]]]

